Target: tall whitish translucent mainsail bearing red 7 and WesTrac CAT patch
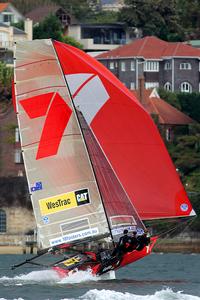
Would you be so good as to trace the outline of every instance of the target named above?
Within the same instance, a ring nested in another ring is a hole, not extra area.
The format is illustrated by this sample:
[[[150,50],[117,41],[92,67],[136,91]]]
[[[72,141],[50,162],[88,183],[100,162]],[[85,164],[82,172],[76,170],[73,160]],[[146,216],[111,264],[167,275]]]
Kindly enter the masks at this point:
[[[98,187],[51,41],[17,43],[14,79],[41,246],[108,235]]]

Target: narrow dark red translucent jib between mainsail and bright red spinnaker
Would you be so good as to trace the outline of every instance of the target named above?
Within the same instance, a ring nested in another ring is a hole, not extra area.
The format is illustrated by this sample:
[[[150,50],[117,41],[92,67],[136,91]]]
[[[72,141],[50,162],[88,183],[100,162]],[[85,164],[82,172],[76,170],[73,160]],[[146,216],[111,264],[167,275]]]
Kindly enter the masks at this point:
[[[78,112],[78,119],[97,177],[98,186],[114,239],[116,239],[115,236],[123,232],[122,230],[120,232],[118,228],[122,229],[123,227],[128,226],[129,231],[144,229],[144,225],[135,211],[133,203],[121,186],[112,167],[109,165],[102,149],[80,112]],[[118,240],[119,238],[117,241]]]

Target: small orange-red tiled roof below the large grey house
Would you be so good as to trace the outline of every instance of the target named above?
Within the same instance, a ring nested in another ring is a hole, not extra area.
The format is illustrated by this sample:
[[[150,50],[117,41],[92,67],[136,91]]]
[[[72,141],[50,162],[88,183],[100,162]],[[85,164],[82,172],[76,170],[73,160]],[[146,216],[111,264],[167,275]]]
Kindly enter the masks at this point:
[[[139,99],[139,91],[131,91]],[[163,99],[152,97],[152,90],[144,90],[142,105],[149,114],[157,114],[159,123],[162,125],[188,125],[195,123],[190,117],[182,113]]]

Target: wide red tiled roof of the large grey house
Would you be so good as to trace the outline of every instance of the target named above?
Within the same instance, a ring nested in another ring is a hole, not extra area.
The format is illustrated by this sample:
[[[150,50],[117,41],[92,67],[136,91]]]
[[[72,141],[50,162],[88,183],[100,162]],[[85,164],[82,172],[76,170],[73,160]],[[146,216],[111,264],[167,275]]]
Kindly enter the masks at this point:
[[[200,57],[200,49],[185,43],[171,43],[154,36],[137,39],[130,44],[97,56],[101,58],[143,57],[144,59],[162,59],[163,57]]]

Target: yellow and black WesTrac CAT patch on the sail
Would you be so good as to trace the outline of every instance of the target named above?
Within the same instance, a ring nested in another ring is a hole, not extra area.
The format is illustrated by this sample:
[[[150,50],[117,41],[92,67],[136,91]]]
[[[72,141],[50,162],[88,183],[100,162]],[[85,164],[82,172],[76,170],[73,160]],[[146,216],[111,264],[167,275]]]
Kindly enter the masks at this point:
[[[42,216],[90,203],[88,189],[73,191],[39,200]]]

